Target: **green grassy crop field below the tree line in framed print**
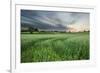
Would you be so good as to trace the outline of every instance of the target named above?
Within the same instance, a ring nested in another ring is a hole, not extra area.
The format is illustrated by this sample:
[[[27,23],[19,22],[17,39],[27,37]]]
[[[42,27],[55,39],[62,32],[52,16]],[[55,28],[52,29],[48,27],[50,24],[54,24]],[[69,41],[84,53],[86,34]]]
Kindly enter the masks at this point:
[[[89,59],[89,32],[21,34],[21,62]]]

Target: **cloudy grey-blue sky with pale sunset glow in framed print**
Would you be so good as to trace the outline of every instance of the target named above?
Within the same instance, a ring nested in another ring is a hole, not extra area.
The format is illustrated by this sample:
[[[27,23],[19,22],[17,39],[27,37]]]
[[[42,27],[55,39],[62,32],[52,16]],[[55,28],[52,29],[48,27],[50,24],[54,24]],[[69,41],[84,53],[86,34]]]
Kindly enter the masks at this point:
[[[44,31],[88,31],[89,13],[21,10],[21,24]]]

